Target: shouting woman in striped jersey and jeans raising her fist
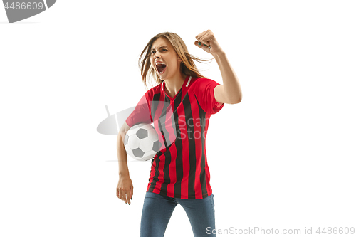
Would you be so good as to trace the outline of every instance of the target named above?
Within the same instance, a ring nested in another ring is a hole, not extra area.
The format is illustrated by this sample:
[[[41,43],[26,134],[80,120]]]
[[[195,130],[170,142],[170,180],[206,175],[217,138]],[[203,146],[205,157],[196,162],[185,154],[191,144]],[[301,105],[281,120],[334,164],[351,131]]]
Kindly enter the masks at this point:
[[[214,33],[204,31],[196,38],[195,46],[214,56],[224,85],[198,72],[193,60],[207,60],[191,56],[182,38],[175,33],[159,33],[140,56],[143,82],[147,83],[148,77],[159,85],[147,90],[117,136],[117,197],[130,204],[133,186],[122,139],[130,127],[140,122],[154,122],[159,134],[160,149],[152,159],[142,209],[141,236],[164,236],[177,204],[186,211],[194,236],[214,236],[208,234],[215,229],[215,218],[206,132],[210,115],[219,112],[224,103],[241,102],[242,93]]]

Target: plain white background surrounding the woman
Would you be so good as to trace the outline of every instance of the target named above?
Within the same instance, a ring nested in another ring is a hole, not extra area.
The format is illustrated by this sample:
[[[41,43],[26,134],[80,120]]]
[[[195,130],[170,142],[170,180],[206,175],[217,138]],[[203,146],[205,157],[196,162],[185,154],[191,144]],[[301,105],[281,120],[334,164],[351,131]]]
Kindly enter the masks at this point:
[[[128,157],[132,204],[117,199],[116,136],[96,128],[105,105],[125,110],[147,90],[137,62],[150,38],[172,31],[211,58],[194,46],[207,29],[243,92],[211,116],[206,138],[216,228],[356,227],[355,10],[355,1],[57,1],[9,24],[1,7],[0,236],[140,236],[150,162]],[[215,60],[197,65],[224,83]],[[166,236],[192,236],[181,206]]]

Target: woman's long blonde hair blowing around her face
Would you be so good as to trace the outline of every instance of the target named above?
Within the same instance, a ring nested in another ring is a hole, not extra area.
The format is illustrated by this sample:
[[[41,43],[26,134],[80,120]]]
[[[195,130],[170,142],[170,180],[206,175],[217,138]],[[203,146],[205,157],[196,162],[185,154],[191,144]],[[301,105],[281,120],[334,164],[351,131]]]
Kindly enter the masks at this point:
[[[142,81],[143,81],[143,83],[145,83],[146,87],[147,87],[147,78],[149,78],[151,80],[151,85],[152,85],[153,80],[155,80],[157,85],[159,85],[163,82],[163,80],[159,79],[157,72],[151,67],[151,61],[150,61],[152,44],[159,37],[167,38],[169,43],[172,44],[174,51],[176,51],[178,57],[182,59],[182,63],[180,64],[180,71],[182,72],[183,75],[192,75],[193,77],[204,78],[204,76],[199,73],[197,66],[194,64],[193,60],[196,60],[197,62],[200,62],[200,63],[210,63],[210,61],[213,58],[201,59],[201,58],[192,56],[191,54],[188,53],[187,46],[185,45],[182,38],[180,38],[177,35],[177,33],[163,32],[163,33],[157,34],[156,36],[154,36],[153,38],[150,39],[150,42],[147,43],[146,47],[142,51],[140,58],[139,58],[138,64],[139,64],[139,68],[141,70]],[[147,77],[147,74],[148,74],[148,77]]]

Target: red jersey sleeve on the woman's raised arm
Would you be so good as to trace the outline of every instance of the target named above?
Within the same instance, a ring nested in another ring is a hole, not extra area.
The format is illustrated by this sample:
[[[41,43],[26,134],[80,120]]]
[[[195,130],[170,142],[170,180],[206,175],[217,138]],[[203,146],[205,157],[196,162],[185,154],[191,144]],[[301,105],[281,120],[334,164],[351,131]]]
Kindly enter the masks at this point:
[[[219,112],[224,107],[224,103],[215,100],[214,88],[220,84],[207,78],[199,78],[196,83],[194,92],[201,108],[211,115]]]

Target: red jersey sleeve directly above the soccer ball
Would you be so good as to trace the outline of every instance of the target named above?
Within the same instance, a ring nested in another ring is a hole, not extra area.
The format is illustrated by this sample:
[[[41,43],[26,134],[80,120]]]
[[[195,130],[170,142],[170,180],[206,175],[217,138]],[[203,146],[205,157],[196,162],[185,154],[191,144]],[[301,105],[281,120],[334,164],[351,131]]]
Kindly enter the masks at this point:
[[[126,123],[130,127],[137,125],[138,123],[151,123],[152,117],[150,107],[148,105],[147,93],[142,96],[141,100],[137,103],[135,109],[127,117]]]

